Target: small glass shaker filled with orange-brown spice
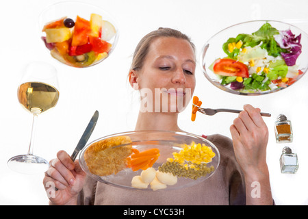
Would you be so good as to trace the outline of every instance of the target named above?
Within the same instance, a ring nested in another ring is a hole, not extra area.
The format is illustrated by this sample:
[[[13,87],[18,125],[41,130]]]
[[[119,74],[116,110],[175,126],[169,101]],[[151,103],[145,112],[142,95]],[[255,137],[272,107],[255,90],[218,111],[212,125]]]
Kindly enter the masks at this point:
[[[277,116],[275,122],[275,135],[277,143],[286,143],[293,141],[292,124],[290,120],[283,114]]]

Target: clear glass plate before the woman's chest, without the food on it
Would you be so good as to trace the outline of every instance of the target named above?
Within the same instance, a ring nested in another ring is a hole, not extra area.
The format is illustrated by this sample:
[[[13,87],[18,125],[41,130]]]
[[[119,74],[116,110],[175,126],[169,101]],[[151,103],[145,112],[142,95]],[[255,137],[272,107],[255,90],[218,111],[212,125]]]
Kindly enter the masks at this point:
[[[201,183],[201,181],[205,181],[206,179],[214,175],[214,172],[216,171],[220,163],[220,153],[216,148],[216,146],[213,143],[209,142],[209,140],[206,140],[201,136],[196,136],[191,133],[170,132],[170,131],[131,131],[124,133],[116,133],[114,135],[105,136],[103,138],[99,138],[97,140],[94,140],[93,142],[90,142],[85,146],[85,148],[81,151],[81,153],[79,153],[79,163],[81,165],[81,168],[90,177],[102,183],[114,185],[116,187],[130,189],[130,190],[153,191],[151,185],[143,189],[132,187],[131,185],[132,178],[140,175],[142,170],[133,171],[131,168],[126,167],[123,170],[120,170],[120,172],[117,172],[116,174],[107,175],[103,177],[94,175],[90,172],[86,164],[86,161],[84,159],[84,154],[88,149],[88,147],[101,140],[106,140],[118,136],[128,136],[132,142],[130,145],[133,145],[133,149],[138,149],[138,151],[140,152],[153,148],[159,149],[159,158],[157,159],[155,164],[153,164],[153,168],[155,168],[155,170],[158,170],[159,166],[165,164],[168,158],[172,158],[173,157],[172,153],[174,152],[179,153],[179,151],[183,149],[183,146],[185,146],[185,144],[192,144],[192,142],[194,142],[195,144],[200,143],[203,146],[208,146],[215,153],[215,156],[211,159],[211,162],[208,162],[206,164],[206,166],[209,168],[213,166],[211,168],[214,168],[214,170],[212,169],[210,173],[207,173],[207,175],[203,177],[198,177],[198,179],[191,179],[188,177],[177,177],[177,183],[175,185],[167,185],[165,189],[155,190],[155,191],[176,190]],[[119,146],[114,146],[111,147],[110,149],[105,149],[105,150],[115,150],[118,149],[118,147],[122,146],[127,146],[127,144],[121,144]],[[204,164],[205,163],[203,163],[203,165]]]

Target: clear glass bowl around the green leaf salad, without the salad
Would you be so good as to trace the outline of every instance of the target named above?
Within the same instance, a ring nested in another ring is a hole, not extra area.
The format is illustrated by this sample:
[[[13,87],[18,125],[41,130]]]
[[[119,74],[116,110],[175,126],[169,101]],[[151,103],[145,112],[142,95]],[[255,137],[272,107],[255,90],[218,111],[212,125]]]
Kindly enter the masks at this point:
[[[298,56],[298,59],[296,60],[296,65],[298,65],[298,70],[301,70],[303,74],[298,75],[294,82],[298,81],[300,78],[303,77],[303,75],[305,75],[308,68],[308,36],[303,30],[298,29],[298,27],[295,27],[294,25],[290,25],[288,23],[283,23],[280,21],[248,21],[222,29],[205,43],[201,51],[201,68],[205,77],[212,84],[214,84],[214,86],[232,94],[260,95],[277,92],[294,84],[292,83],[291,85],[286,85],[284,87],[277,86],[276,88],[272,88],[272,90],[266,91],[232,90],[230,88],[230,84],[227,86],[221,85],[221,79],[219,79],[217,75],[209,69],[209,66],[211,66],[211,64],[216,59],[227,57],[227,54],[224,53],[224,51],[222,50],[222,44],[224,44],[224,42],[227,42],[229,38],[235,38],[236,36],[238,36],[238,34],[252,34],[266,22],[270,23],[270,25],[272,25],[272,27],[276,28],[278,31],[291,29],[292,33],[295,34],[295,36],[301,34],[300,43],[302,44],[302,53]]]

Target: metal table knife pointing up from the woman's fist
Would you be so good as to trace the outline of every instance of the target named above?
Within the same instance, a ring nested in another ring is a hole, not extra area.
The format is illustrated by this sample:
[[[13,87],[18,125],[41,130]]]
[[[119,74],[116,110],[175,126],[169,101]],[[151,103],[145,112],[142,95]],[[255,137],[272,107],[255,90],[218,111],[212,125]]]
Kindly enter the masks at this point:
[[[81,136],[73,154],[70,156],[70,159],[73,160],[73,162],[75,161],[79,151],[81,151],[81,149],[84,148],[84,146],[86,145],[86,143],[88,142],[95,125],[97,125],[97,120],[99,118],[99,112],[95,111],[88,126],[86,127],[86,130],[84,131],[84,134]]]

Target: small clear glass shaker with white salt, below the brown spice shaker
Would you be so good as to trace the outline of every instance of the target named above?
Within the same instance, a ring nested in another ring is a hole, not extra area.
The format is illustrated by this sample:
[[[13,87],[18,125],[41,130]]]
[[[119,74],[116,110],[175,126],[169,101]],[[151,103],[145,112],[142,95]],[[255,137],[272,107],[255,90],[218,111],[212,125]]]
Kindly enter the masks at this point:
[[[298,158],[296,153],[285,146],[280,157],[280,168],[282,173],[296,173],[298,170]]]

